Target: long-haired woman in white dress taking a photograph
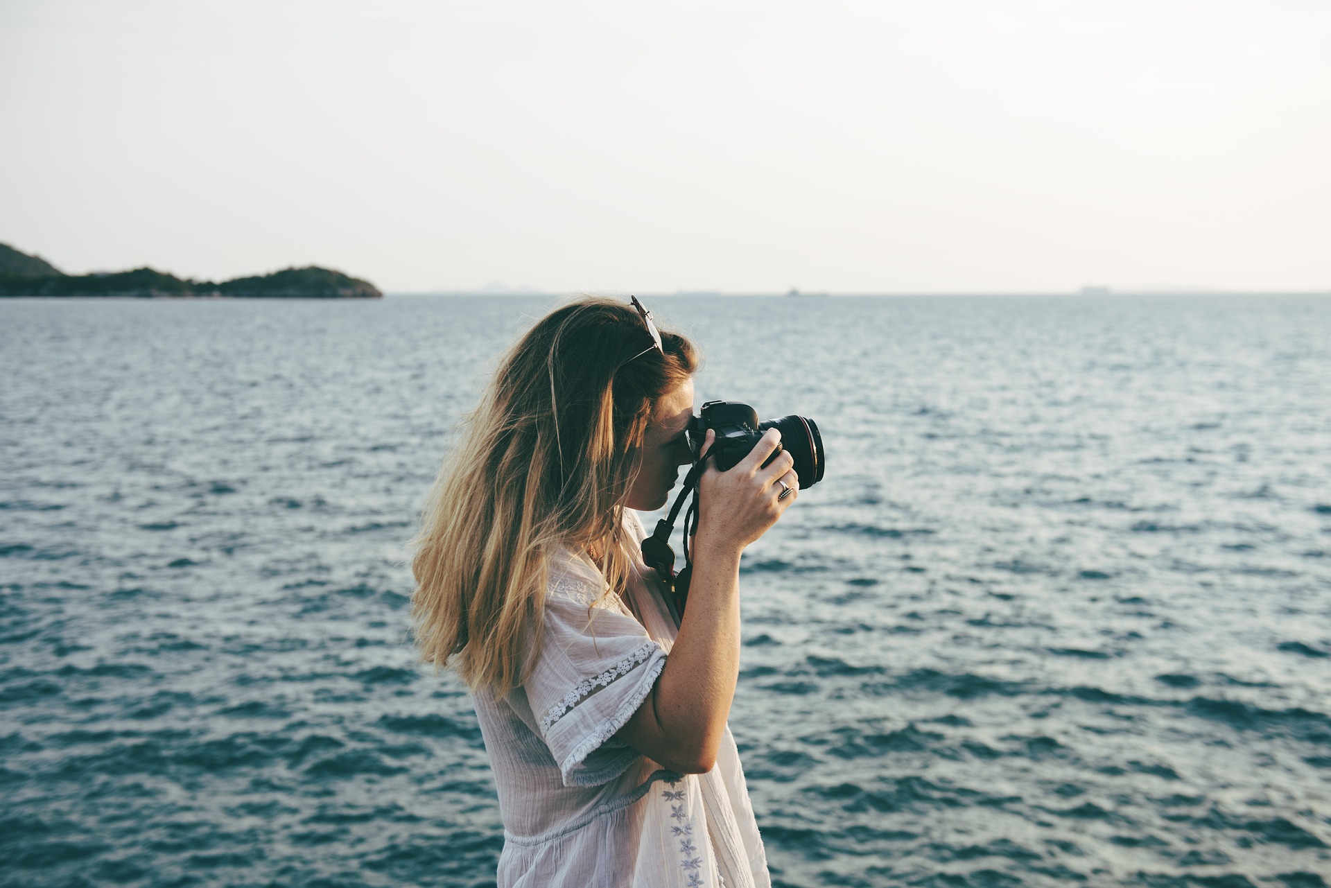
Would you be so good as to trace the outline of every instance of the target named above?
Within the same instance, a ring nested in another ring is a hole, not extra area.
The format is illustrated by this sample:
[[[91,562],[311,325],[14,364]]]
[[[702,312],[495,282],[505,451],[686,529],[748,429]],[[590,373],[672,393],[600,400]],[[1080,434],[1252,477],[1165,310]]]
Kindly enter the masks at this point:
[[[692,462],[696,369],[638,300],[559,308],[504,357],[431,493],[413,618],[423,656],[471,690],[500,888],[771,884],[725,719],[740,553],[799,479],[784,451],[761,465],[776,430],[707,469],[680,616],[631,510],[660,509]]]

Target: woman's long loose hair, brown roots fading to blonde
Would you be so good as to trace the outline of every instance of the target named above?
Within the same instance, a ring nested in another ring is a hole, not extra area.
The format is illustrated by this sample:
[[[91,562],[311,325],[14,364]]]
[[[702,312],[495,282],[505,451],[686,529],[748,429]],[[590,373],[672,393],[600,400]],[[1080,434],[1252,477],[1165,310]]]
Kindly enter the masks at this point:
[[[598,549],[602,594],[623,588],[623,509],[643,434],[658,399],[697,369],[683,335],[662,330],[662,347],[627,302],[583,297],[503,357],[414,541],[411,618],[425,660],[503,696],[540,644],[560,549]]]

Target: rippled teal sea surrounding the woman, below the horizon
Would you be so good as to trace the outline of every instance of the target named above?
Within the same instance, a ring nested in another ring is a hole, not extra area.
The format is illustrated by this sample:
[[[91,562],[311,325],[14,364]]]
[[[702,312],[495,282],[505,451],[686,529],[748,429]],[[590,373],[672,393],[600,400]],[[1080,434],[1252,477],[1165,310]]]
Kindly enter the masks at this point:
[[[554,304],[0,301],[0,884],[494,884],[406,541]],[[1331,297],[648,306],[825,446],[741,568],[776,885],[1327,884]]]

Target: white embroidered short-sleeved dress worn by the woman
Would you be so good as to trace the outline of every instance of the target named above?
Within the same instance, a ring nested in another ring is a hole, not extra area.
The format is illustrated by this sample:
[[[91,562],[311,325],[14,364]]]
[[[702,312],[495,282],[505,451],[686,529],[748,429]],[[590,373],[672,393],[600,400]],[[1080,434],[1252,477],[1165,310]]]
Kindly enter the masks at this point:
[[[636,514],[624,523],[630,539],[646,535]],[[628,600],[607,595],[588,611],[596,568],[571,553],[556,559],[531,678],[503,700],[473,696],[504,825],[498,888],[771,888],[729,728],[701,775],[611,740],[647,699],[677,628],[655,574],[635,568]]]

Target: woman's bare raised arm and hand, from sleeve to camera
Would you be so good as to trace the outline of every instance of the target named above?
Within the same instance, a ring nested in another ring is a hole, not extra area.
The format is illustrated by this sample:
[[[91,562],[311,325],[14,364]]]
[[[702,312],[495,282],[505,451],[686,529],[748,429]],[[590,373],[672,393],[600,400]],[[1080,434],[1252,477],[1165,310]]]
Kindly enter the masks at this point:
[[[763,467],[780,441],[769,429],[729,471],[712,466],[699,479],[688,607],[652,692],[615,735],[672,771],[716,764],[740,668],[740,554],[795,502],[777,501],[776,482],[799,485],[789,453]]]

